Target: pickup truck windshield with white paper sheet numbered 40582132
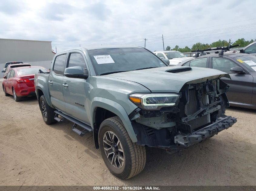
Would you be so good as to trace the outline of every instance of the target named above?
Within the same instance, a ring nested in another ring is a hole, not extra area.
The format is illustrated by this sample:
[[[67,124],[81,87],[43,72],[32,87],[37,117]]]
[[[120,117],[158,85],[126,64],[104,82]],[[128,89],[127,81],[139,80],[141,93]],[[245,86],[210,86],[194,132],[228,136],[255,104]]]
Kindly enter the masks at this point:
[[[97,75],[167,66],[144,48],[110,48],[88,50]]]

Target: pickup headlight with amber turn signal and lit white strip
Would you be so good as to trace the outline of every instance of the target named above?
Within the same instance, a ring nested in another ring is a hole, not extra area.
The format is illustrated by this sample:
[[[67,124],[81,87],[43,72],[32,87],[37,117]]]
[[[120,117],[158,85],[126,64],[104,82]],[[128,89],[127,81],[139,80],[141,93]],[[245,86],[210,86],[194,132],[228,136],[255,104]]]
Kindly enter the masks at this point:
[[[179,94],[131,94],[129,99],[141,109],[160,110],[162,107],[176,106]]]

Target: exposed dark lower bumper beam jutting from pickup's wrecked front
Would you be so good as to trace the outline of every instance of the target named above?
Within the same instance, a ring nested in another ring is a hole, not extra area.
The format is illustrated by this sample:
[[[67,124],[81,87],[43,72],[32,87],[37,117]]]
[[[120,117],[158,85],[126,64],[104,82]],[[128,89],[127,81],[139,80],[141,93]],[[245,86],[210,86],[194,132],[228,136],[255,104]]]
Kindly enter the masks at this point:
[[[195,143],[201,142],[204,139],[211,137],[218,132],[221,132],[224,129],[228,129],[234,123],[237,122],[237,119],[231,116],[227,117],[219,117],[215,123],[212,123],[202,129],[199,129],[191,134],[179,134],[174,137],[175,143],[180,144],[180,146],[171,146],[169,149],[177,149],[177,148],[187,148]],[[168,149],[168,150],[169,150]]]

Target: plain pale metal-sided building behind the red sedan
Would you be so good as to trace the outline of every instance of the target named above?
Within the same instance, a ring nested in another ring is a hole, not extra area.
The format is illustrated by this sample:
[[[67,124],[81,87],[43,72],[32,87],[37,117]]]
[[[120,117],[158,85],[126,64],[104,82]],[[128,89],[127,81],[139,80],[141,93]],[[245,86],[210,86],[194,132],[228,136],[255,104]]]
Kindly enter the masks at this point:
[[[52,42],[40,40],[0,39],[0,70],[5,62],[23,61],[32,66],[51,67]],[[2,75],[0,74],[0,78]]]

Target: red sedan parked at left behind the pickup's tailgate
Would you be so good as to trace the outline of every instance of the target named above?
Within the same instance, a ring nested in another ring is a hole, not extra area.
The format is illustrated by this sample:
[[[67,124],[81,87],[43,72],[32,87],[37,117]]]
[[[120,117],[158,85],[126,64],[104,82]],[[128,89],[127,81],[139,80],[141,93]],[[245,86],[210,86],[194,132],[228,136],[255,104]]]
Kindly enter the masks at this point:
[[[12,68],[7,76],[4,76],[3,90],[5,96],[13,95],[15,101],[20,101],[21,97],[34,96],[35,73],[49,72],[46,68],[41,66],[24,66]]]

